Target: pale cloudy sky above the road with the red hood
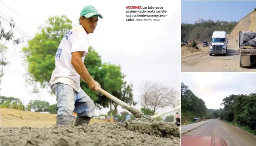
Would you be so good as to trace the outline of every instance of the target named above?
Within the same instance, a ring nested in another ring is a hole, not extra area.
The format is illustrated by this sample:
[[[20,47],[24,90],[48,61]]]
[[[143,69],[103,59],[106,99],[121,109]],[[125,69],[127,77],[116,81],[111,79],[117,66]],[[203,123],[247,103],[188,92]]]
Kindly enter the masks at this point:
[[[202,98],[208,109],[223,107],[220,106],[223,98],[230,94],[256,91],[255,73],[182,73],[181,82]]]

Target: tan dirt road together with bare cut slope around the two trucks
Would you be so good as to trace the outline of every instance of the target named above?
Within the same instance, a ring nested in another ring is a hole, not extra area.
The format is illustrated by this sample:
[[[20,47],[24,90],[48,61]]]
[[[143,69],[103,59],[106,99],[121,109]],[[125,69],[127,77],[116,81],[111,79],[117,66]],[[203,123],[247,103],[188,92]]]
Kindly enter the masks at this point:
[[[239,67],[238,44],[236,44],[239,31],[256,31],[256,11],[241,19],[227,35],[229,39],[227,56],[209,56],[209,47],[204,47],[199,52],[184,51],[185,53],[181,53],[181,72],[256,72],[256,66],[250,69]],[[184,49],[181,49],[181,52],[182,50]]]

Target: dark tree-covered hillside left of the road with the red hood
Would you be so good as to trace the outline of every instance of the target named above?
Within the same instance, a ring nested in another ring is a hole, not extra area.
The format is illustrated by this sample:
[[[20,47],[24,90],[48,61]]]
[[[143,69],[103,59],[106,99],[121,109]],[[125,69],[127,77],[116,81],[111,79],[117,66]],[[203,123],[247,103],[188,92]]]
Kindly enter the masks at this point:
[[[185,83],[181,82],[181,124],[193,122],[193,118],[206,117],[205,102],[197,97]]]

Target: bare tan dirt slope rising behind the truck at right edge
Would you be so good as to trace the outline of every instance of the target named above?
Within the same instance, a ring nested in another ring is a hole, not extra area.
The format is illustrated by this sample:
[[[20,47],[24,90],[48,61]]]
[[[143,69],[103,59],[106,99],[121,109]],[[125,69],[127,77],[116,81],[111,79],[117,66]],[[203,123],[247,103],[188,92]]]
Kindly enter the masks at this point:
[[[237,48],[238,44],[236,44],[236,40],[239,39],[238,33],[239,31],[256,31],[256,11],[252,11],[248,15],[246,15],[243,19],[241,19],[236,27],[229,34],[229,46],[232,48]]]

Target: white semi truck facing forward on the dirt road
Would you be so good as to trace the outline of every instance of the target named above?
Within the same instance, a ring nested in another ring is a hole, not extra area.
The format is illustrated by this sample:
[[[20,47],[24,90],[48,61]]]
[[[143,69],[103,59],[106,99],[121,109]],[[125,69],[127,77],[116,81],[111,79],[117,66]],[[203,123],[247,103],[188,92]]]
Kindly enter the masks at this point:
[[[212,34],[211,46],[209,49],[209,55],[222,54],[227,55],[227,32],[226,31],[214,31]]]

